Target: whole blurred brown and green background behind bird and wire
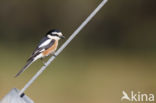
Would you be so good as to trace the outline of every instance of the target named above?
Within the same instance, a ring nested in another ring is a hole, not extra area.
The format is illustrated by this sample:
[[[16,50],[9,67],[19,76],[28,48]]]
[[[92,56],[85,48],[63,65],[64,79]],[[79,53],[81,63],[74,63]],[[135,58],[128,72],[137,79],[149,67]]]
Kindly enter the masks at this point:
[[[0,98],[21,89],[41,67],[37,61],[13,78],[49,29],[67,39],[100,2],[1,0]],[[109,0],[26,94],[36,103],[116,103],[122,90],[156,94],[155,4]]]

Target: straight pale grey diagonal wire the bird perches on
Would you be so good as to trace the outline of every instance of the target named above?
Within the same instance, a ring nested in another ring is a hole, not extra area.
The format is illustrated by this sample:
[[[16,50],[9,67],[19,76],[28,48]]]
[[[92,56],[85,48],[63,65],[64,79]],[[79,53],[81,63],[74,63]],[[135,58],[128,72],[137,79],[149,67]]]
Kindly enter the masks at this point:
[[[87,19],[74,31],[74,33],[68,38],[68,40],[57,50],[55,53],[58,56],[63,49],[71,42],[71,40],[88,24],[88,22],[96,15],[96,13],[106,4],[107,0],[103,0],[98,7],[87,17]],[[24,91],[37,79],[37,77],[49,66],[49,64],[56,58],[52,56],[44,66],[31,78],[30,81],[24,86],[23,89],[19,92],[19,95],[24,93]]]

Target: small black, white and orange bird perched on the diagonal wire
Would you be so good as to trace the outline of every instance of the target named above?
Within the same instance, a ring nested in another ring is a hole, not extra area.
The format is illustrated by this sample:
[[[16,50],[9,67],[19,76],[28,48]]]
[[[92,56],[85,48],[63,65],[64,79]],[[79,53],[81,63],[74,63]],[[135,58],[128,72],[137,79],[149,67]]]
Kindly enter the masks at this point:
[[[20,71],[15,75],[15,77],[19,76],[22,72],[24,72],[33,62],[38,59],[43,60],[44,57],[52,54],[55,55],[55,51],[58,47],[58,42],[60,39],[64,39],[62,32],[57,29],[49,30],[46,35],[40,40],[36,49],[33,51],[32,55],[28,58],[26,65],[20,69]],[[45,65],[45,63],[44,63]]]

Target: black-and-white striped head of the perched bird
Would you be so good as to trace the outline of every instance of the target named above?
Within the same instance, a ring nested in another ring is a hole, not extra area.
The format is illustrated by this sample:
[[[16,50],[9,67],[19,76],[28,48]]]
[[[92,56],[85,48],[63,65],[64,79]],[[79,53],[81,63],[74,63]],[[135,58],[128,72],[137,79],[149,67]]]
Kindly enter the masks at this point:
[[[50,39],[64,39],[65,37],[63,36],[62,32],[56,29],[50,30],[47,32],[47,37]]]

